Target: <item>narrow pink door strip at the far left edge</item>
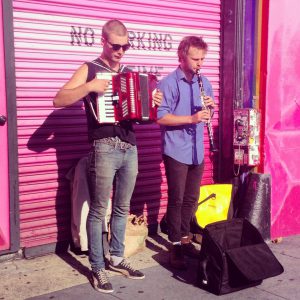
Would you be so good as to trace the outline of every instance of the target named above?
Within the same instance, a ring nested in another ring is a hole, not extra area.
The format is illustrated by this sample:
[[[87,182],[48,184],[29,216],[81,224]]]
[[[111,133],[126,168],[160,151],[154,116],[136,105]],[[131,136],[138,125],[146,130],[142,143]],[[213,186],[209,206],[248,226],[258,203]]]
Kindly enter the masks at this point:
[[[2,0],[0,1],[0,115],[6,116],[5,93],[5,69],[4,69],[4,42]],[[0,250],[6,250],[10,246],[9,237],[9,192],[8,192],[8,148],[7,148],[7,124],[0,127]]]

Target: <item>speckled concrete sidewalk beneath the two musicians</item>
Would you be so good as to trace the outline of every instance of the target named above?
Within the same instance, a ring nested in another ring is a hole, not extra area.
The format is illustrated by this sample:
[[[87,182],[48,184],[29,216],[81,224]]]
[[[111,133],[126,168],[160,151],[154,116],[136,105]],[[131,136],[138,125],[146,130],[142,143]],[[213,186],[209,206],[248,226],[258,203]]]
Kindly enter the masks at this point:
[[[167,240],[163,234],[149,237],[147,248],[130,258],[146,274],[130,280],[110,272],[114,293],[96,292],[88,281],[86,256],[71,252],[31,260],[0,263],[0,300],[8,299],[300,299],[300,235],[269,244],[285,272],[257,287],[215,296],[194,286],[197,262],[189,260],[188,271],[168,267]]]

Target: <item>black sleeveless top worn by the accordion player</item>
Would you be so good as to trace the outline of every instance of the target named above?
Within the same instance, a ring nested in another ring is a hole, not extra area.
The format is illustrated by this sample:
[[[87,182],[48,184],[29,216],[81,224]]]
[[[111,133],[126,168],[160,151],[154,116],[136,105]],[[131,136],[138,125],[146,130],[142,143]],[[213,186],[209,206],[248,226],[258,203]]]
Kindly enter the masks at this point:
[[[87,82],[95,78],[96,73],[99,72],[112,72],[115,73],[109,66],[107,66],[100,58],[95,59],[92,62],[86,62],[88,66],[88,77]],[[130,72],[131,70],[127,67],[121,66],[119,72]],[[89,99],[96,111],[96,99],[97,93],[90,93]],[[87,117],[88,125],[88,138],[90,142],[94,140],[107,138],[107,137],[119,137],[122,141],[136,145],[136,137],[133,130],[132,122],[122,121],[118,125],[114,124],[99,124],[96,120],[91,107],[89,105],[89,100],[84,98],[85,112]]]

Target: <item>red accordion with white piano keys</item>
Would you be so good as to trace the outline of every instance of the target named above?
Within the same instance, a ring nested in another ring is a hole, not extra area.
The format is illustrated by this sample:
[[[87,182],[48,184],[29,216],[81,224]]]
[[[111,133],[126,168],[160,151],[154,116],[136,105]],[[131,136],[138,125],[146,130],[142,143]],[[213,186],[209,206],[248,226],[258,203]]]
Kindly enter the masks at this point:
[[[156,107],[153,101],[157,86],[155,75],[126,72],[97,73],[96,76],[98,79],[110,81],[106,92],[99,94],[96,100],[94,115],[100,124],[124,120],[136,122],[156,120]]]

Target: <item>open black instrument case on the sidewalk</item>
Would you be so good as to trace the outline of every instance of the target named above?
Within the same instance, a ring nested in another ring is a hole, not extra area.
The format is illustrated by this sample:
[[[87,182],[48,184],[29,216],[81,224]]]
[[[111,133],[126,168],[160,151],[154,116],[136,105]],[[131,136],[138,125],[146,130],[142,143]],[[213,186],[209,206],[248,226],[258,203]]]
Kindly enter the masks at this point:
[[[197,285],[216,295],[256,286],[283,267],[246,219],[209,224],[203,231]]]

